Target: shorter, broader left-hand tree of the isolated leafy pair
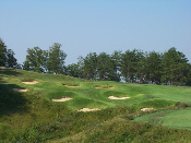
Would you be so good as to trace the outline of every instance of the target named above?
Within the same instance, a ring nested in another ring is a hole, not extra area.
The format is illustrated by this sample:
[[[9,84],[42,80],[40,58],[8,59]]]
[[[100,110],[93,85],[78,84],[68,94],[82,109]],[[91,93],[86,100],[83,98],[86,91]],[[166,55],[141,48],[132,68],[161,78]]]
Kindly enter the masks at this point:
[[[27,49],[26,61],[24,62],[24,70],[33,70],[35,72],[45,72],[46,71],[46,61],[48,52],[41,50],[39,47],[34,47]]]

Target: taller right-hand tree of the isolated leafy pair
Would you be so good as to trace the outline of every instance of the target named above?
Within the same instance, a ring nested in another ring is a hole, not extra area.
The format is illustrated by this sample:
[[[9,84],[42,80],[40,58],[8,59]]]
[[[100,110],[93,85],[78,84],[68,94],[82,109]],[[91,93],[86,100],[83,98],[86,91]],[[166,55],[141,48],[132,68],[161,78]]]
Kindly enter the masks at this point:
[[[60,50],[61,45],[55,43],[48,51],[47,69],[49,73],[63,73],[67,53]]]

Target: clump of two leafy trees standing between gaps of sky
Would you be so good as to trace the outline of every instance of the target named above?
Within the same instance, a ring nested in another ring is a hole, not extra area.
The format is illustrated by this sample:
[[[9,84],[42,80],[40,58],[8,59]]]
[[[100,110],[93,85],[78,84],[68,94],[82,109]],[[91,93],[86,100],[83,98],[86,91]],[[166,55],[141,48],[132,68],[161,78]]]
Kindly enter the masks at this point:
[[[67,53],[60,50],[61,45],[55,43],[49,50],[39,47],[27,49],[23,69],[35,72],[64,73],[64,59]]]

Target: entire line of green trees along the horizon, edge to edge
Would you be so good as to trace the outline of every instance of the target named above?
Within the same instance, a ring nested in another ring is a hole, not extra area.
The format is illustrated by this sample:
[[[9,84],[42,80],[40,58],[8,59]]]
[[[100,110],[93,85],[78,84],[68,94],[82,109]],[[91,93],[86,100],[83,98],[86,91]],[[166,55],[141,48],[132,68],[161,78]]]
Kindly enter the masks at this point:
[[[127,83],[191,85],[191,64],[186,56],[170,48],[164,53],[133,49],[126,52],[89,52],[77,63],[64,65],[67,53],[55,43],[49,50],[28,48],[26,60],[20,65],[14,52],[0,39],[0,65],[21,68],[35,72],[67,74],[74,78]]]

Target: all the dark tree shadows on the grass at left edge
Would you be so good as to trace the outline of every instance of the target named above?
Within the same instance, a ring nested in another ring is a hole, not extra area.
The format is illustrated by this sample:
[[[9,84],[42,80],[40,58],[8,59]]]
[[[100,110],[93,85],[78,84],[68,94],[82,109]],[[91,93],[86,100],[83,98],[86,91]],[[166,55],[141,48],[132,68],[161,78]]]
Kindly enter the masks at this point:
[[[5,75],[21,75],[15,69],[0,69],[0,116],[23,112],[27,110],[27,99],[22,93],[14,92],[13,88],[23,88],[15,84],[8,84],[3,81]]]

